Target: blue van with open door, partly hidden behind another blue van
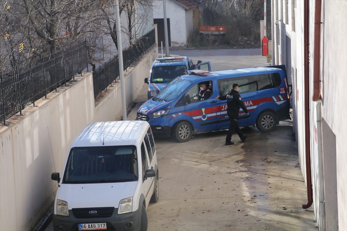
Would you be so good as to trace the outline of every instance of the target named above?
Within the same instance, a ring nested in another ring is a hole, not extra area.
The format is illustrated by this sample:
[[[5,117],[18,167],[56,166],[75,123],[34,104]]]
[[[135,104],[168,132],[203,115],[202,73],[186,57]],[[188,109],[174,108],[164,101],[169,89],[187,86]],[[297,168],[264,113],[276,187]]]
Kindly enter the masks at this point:
[[[148,99],[156,96],[176,77],[188,74],[188,70],[191,70],[192,65],[192,60],[183,56],[155,59],[152,64],[150,77],[145,78],[145,83],[149,85]],[[201,63],[195,69],[211,71],[210,62]]]

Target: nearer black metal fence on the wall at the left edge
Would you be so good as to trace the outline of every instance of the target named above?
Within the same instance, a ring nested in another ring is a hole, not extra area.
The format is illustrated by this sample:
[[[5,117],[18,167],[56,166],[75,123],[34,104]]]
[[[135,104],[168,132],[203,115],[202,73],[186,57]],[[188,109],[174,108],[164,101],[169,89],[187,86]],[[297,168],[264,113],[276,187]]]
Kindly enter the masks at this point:
[[[88,68],[86,41],[63,47],[50,56],[0,72],[0,122],[19,112],[35,100],[73,79]]]

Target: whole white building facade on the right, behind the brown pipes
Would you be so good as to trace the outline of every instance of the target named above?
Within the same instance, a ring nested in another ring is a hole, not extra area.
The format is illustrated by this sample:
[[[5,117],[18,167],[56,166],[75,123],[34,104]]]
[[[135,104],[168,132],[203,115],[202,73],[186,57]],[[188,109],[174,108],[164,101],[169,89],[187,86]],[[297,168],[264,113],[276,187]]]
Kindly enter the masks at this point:
[[[315,6],[320,2],[319,12]],[[347,230],[347,1],[308,0],[309,92],[304,90],[304,1],[272,0],[271,9],[272,65],[285,64],[292,76],[288,79],[293,84],[293,132],[305,181],[305,93],[310,97],[312,206],[317,225],[320,230]],[[320,42],[314,39],[315,14],[321,14]],[[315,53],[320,53],[317,101],[311,98]]]

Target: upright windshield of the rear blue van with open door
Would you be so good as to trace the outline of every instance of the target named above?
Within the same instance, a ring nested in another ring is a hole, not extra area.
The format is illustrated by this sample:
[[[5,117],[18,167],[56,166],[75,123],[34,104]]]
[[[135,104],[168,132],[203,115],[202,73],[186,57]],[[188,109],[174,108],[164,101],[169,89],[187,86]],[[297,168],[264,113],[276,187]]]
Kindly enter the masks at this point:
[[[187,74],[185,65],[155,66],[152,69],[151,82],[171,82],[184,74]]]

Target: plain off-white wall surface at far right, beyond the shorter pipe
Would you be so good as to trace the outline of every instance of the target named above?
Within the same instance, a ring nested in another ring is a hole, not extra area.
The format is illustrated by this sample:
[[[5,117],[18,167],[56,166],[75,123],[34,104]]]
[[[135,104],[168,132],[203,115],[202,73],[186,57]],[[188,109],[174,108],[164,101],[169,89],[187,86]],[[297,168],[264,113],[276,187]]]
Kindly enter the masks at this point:
[[[347,230],[347,1],[322,3],[322,117],[336,135],[339,230]]]

